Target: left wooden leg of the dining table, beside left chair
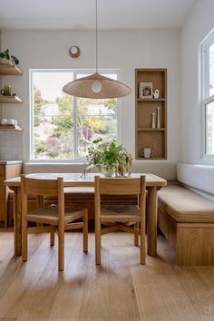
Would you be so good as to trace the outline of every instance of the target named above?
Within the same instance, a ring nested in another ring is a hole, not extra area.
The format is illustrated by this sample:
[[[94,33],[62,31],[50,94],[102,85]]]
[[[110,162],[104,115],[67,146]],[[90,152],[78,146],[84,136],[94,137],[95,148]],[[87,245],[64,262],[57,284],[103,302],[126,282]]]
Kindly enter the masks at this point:
[[[14,187],[14,238],[15,255],[22,255],[22,208],[21,190]]]

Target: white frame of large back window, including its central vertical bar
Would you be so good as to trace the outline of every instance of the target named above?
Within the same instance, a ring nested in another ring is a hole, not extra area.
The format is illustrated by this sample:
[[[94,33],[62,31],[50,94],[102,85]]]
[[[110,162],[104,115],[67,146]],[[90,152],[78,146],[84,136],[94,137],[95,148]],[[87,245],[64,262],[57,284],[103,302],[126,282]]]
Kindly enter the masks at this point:
[[[29,152],[28,152],[28,158],[29,162],[32,163],[83,163],[86,159],[85,158],[77,158],[77,131],[76,131],[76,101],[77,98],[73,97],[73,120],[75,118],[73,131],[75,130],[75,134],[73,135],[73,154],[74,158],[73,160],[67,159],[67,160],[43,160],[43,159],[34,159],[34,134],[33,134],[33,117],[34,117],[34,83],[33,83],[33,73],[38,72],[48,72],[48,73],[56,73],[56,72],[71,72],[73,73],[73,80],[76,79],[78,73],[85,73],[86,74],[92,74],[94,73],[94,70],[89,69],[46,69],[46,68],[36,68],[36,69],[29,69],[29,102],[30,102],[30,111],[29,111]],[[110,74],[116,74],[117,80],[120,81],[120,71],[116,69],[111,70],[102,70],[100,71],[103,75],[110,75]],[[75,108],[74,108],[75,106]],[[117,117],[117,143],[122,143],[122,99],[117,98],[117,108],[116,108],[116,117]]]

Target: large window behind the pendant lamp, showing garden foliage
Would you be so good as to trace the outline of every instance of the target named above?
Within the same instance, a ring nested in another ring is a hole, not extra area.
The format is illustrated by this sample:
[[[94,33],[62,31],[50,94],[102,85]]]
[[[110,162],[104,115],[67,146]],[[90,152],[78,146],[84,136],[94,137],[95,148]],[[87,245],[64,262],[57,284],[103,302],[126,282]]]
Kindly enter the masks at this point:
[[[31,160],[82,160],[92,141],[117,139],[117,100],[76,98],[63,85],[88,73],[31,71]],[[104,75],[117,79],[116,73]]]

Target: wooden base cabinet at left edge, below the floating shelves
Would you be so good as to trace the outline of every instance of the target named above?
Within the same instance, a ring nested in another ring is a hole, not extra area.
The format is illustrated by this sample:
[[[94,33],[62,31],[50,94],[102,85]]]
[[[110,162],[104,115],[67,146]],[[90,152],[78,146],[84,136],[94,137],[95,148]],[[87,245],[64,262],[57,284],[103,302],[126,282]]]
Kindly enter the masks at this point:
[[[13,160],[5,160],[0,164],[0,226],[7,228],[7,201],[9,188],[4,186],[4,180],[13,179],[22,173],[22,161],[15,163]]]

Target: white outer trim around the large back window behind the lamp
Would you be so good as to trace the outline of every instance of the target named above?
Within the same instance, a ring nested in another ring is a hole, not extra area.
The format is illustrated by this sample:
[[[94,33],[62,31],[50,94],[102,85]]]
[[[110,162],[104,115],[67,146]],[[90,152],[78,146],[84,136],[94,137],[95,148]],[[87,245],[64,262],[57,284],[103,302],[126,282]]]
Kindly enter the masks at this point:
[[[76,158],[76,150],[74,149],[74,160],[34,160],[33,159],[33,127],[32,127],[32,120],[33,120],[33,73],[34,72],[71,72],[73,73],[75,79],[75,75],[77,73],[94,73],[94,70],[89,69],[29,69],[29,102],[30,102],[30,111],[29,111],[29,138],[30,138],[30,144],[29,144],[29,150],[28,150],[28,163],[53,163],[53,164],[63,164],[63,163],[72,163],[72,164],[82,164],[84,163],[85,159],[83,158]],[[120,71],[117,69],[111,69],[111,70],[99,70],[99,73],[106,73],[106,74],[117,74],[117,80],[121,81],[120,77]],[[75,109],[73,109],[74,111]],[[75,113],[75,112],[74,112]],[[73,116],[75,116],[73,114]],[[75,131],[76,132],[76,131]],[[74,144],[76,143],[76,140],[73,140]],[[117,98],[117,143],[122,143],[122,98]],[[76,146],[74,145],[73,148]]]

